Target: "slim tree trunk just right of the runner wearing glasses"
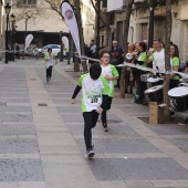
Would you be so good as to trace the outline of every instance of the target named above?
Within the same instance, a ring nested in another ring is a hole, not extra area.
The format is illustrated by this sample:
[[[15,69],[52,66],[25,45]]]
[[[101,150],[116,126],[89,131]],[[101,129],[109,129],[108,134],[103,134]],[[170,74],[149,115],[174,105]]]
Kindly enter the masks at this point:
[[[129,30],[129,18],[132,13],[132,7],[133,7],[134,0],[128,0],[127,1],[127,7],[126,7],[126,21],[125,21],[125,29],[124,29],[124,40],[125,40],[125,49],[124,53],[126,54],[128,52],[128,30]],[[125,98],[125,71],[126,66],[122,69],[122,74],[121,74],[121,97]]]

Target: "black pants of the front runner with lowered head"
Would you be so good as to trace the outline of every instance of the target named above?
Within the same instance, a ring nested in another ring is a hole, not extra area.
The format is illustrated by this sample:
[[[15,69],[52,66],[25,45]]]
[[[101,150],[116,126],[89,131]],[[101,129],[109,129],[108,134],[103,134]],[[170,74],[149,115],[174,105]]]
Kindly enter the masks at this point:
[[[95,127],[98,119],[98,113],[96,111],[83,113],[84,117],[84,139],[86,149],[92,148],[92,128]]]

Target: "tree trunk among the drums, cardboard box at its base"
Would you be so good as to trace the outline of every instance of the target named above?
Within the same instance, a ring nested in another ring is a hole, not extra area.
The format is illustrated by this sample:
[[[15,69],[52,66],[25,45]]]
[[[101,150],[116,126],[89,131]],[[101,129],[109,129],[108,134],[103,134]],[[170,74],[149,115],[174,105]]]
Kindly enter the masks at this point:
[[[166,0],[166,38],[165,38],[165,70],[170,71],[170,36],[171,36],[171,0]],[[164,103],[166,107],[164,108],[165,122],[169,121],[169,100],[168,100],[168,90],[169,90],[170,74],[165,74],[164,81]]]

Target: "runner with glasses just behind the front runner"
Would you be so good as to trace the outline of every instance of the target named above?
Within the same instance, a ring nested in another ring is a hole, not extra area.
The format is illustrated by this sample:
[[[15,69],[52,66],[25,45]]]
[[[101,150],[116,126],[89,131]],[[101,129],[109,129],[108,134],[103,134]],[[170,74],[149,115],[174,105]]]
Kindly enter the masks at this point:
[[[100,58],[101,58],[102,75],[106,79],[109,86],[107,105],[104,106],[101,116],[104,132],[108,132],[106,111],[111,109],[112,100],[114,97],[114,81],[118,79],[118,72],[114,65],[109,64],[109,53],[107,51],[102,51]]]

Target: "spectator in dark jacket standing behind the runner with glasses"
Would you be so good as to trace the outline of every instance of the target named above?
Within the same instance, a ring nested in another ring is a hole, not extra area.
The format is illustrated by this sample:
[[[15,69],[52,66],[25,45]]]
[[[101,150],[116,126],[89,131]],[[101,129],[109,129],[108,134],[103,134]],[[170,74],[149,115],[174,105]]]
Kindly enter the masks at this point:
[[[122,64],[124,61],[124,58],[122,56],[124,53],[123,49],[118,45],[117,41],[113,41],[113,48],[112,48],[112,62],[111,64],[113,65],[118,65]],[[122,72],[122,67],[117,67],[118,71],[118,80],[117,80],[117,84],[115,85],[115,87],[119,88],[119,80],[121,80],[121,72]]]

